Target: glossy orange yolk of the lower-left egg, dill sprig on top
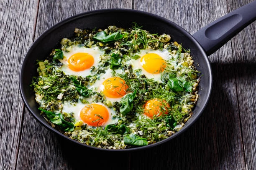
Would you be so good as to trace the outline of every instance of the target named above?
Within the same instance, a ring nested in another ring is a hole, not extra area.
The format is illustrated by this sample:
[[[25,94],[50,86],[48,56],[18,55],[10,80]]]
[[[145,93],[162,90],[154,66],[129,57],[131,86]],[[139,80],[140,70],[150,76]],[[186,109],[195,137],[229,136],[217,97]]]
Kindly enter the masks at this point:
[[[108,121],[109,112],[105,106],[92,103],[82,108],[80,117],[87,125],[98,127]]]

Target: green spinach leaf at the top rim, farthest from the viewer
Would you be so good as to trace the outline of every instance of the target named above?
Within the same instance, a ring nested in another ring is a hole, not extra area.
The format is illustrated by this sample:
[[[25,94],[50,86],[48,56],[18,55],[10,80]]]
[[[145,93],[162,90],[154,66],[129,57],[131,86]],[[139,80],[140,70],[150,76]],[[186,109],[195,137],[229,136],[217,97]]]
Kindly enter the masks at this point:
[[[99,40],[100,42],[104,42],[104,43],[114,42],[115,40],[119,40],[119,39],[122,39],[122,38],[123,38],[123,35],[119,31],[115,32],[111,35],[107,35],[107,33],[105,31],[101,31],[101,32],[98,32],[93,37],[93,39]]]

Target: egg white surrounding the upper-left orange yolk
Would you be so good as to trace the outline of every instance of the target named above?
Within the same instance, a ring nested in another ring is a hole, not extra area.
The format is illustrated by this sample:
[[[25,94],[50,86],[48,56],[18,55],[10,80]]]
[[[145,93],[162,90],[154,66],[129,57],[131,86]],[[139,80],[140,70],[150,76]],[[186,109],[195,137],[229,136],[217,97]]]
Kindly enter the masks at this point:
[[[60,62],[62,64],[64,64],[63,66],[61,66],[61,70],[67,75],[76,75],[76,76],[82,76],[82,77],[86,77],[87,75],[91,74],[90,68],[83,70],[83,71],[71,70],[68,67],[68,62],[67,62],[69,57],[71,57],[72,55],[74,55],[78,52],[86,52],[93,56],[94,63],[92,66],[96,67],[98,65],[98,60],[100,58],[100,55],[104,54],[104,51],[100,50],[100,48],[96,45],[92,46],[90,48],[83,47],[81,45],[72,45],[67,50],[69,50],[69,52],[63,51],[64,58],[63,58],[63,60],[60,60]]]

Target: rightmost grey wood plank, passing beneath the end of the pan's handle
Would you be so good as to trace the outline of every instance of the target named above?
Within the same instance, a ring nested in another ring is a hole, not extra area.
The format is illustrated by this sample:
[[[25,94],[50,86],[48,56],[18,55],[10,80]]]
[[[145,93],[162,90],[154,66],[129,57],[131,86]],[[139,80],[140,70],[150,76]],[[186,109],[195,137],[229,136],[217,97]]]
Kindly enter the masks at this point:
[[[234,3],[230,0],[229,9],[233,10],[251,1]],[[241,129],[245,152],[246,169],[256,167],[256,22],[242,30],[232,41],[238,104],[241,116]]]

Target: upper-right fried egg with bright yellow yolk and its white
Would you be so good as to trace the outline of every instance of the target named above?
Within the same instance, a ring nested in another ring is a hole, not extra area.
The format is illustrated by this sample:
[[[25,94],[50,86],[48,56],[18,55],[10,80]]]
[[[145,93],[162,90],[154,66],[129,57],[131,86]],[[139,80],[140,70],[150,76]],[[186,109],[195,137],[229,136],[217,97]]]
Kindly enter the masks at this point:
[[[137,55],[141,56],[137,60],[130,60],[130,64],[134,70],[141,70],[141,74],[146,75],[149,79],[161,81],[161,72],[166,68],[166,60],[171,58],[168,50],[141,50]]]

